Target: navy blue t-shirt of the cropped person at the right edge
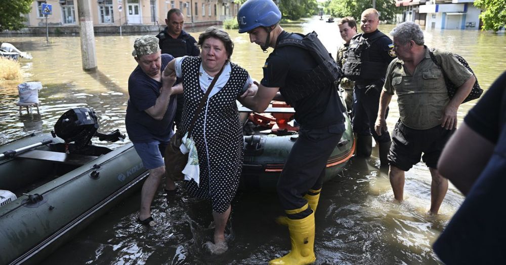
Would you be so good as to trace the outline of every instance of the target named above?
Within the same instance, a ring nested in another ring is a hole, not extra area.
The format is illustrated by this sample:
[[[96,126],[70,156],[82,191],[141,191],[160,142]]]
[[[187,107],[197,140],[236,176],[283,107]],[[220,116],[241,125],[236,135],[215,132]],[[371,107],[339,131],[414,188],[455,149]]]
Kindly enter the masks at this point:
[[[490,86],[464,119],[473,131],[493,142],[495,147],[466,200],[434,243],[434,252],[445,264],[502,264],[506,259],[506,212],[503,208],[506,203],[505,89],[506,72]]]

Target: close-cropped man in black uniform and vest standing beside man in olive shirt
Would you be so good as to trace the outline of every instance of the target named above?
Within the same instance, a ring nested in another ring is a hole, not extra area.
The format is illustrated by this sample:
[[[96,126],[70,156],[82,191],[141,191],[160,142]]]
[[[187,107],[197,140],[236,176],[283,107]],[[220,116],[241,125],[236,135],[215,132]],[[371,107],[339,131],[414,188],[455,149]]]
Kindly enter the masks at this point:
[[[374,123],[387,67],[396,56],[392,40],[377,29],[379,13],[375,9],[369,8],[362,12],[360,22],[364,33],[353,37],[343,67],[345,76],[355,81],[352,120],[353,132],[357,136],[355,155],[370,157],[374,138],[381,164],[388,165],[390,134],[384,131],[378,136],[374,131]]]

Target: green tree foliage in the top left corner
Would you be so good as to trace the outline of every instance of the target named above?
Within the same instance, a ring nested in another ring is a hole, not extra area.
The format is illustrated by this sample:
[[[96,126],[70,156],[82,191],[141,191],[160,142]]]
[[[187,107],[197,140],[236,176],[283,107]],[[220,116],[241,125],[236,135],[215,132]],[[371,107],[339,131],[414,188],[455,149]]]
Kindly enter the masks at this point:
[[[31,11],[33,0],[0,0],[0,32],[24,28],[23,14]]]

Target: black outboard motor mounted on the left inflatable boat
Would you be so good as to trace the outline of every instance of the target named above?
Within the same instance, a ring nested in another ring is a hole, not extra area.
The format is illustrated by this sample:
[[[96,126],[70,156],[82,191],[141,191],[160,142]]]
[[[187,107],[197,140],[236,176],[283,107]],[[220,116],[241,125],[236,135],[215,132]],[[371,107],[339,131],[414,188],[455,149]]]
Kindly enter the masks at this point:
[[[81,107],[67,110],[55,124],[54,137],[62,138],[65,143],[74,142],[74,148],[80,149],[91,143],[93,136],[101,141],[115,142],[123,140],[119,130],[104,134],[97,132],[99,128],[97,115],[91,108]]]

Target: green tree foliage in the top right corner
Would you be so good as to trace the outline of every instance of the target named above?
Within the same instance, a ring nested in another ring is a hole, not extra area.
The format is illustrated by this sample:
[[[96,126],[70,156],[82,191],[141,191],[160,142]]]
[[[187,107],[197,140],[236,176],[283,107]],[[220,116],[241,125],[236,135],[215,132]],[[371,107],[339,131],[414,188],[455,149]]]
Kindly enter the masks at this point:
[[[497,32],[506,26],[506,1],[504,0],[476,0],[475,7],[484,9],[480,14],[483,21],[482,30]]]

